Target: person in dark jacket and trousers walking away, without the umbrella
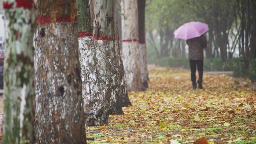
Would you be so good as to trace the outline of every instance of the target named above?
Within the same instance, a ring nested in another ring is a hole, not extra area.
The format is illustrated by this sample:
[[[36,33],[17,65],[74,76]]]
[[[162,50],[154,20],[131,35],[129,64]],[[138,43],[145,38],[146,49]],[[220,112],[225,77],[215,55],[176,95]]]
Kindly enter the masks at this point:
[[[206,36],[201,35],[200,37],[195,37],[192,39],[186,40],[187,45],[189,46],[189,63],[191,70],[191,81],[192,88],[202,89],[203,81],[203,49],[207,47]],[[198,81],[196,83],[196,66],[198,70]]]

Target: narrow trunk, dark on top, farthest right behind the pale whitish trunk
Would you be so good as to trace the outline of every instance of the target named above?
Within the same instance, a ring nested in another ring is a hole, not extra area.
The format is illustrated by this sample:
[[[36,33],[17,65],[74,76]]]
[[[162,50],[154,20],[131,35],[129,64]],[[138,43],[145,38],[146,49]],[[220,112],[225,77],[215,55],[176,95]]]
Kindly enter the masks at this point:
[[[147,81],[148,71],[146,63],[146,36],[145,36],[145,7],[146,0],[137,0],[138,6],[138,36],[139,36],[139,50],[140,50],[140,71],[141,78],[145,88],[148,88]]]

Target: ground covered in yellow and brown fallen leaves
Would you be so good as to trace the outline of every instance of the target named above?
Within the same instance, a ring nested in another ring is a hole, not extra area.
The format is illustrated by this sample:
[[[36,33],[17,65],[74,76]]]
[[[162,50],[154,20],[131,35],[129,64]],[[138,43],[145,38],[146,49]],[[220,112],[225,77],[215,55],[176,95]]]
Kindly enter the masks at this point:
[[[192,90],[190,72],[149,67],[149,89],[129,92],[133,106],[108,126],[87,127],[91,144],[256,144],[256,92],[229,75],[204,75]],[[204,143],[201,143],[204,144]]]

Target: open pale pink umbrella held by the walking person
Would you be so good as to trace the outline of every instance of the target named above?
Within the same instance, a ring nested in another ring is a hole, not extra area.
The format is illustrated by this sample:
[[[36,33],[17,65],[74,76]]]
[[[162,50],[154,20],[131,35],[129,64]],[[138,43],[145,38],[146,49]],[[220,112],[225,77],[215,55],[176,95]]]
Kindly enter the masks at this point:
[[[175,38],[187,40],[194,37],[199,37],[205,32],[207,32],[208,30],[209,30],[209,27],[207,24],[199,21],[192,21],[192,22],[183,24],[181,27],[175,30],[174,36]]]

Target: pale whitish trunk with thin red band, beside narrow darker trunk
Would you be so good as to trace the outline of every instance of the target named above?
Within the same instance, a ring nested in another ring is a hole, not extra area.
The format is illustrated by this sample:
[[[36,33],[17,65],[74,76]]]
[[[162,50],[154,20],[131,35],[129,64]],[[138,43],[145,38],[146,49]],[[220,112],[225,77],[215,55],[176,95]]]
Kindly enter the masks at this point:
[[[122,59],[128,90],[145,90],[141,79],[138,46],[137,0],[122,0]]]

